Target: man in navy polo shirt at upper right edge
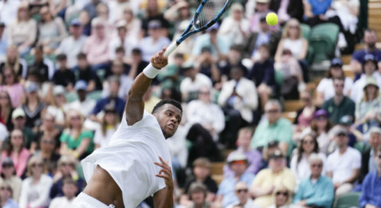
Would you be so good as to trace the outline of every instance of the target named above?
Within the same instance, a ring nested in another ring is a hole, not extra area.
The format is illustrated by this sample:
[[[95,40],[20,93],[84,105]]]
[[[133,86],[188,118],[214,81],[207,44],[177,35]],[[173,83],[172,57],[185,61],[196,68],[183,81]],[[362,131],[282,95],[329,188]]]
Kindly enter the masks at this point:
[[[352,60],[350,60],[350,68],[355,73],[355,80],[357,80],[362,74],[362,65],[364,64],[364,58],[367,54],[372,54],[377,61],[378,68],[381,68],[381,50],[378,49],[375,44],[378,42],[377,33],[373,29],[366,29],[364,32],[364,49],[355,51],[352,54]]]

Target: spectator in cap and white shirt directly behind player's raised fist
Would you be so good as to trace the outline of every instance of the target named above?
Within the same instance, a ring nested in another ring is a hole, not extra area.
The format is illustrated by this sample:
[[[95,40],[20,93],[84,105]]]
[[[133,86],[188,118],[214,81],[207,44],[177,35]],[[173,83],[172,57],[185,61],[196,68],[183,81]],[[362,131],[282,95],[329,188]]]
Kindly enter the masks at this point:
[[[154,1],[154,0],[150,0]],[[163,49],[163,46],[168,46],[170,40],[168,37],[163,36],[161,30],[163,25],[159,20],[152,20],[148,23],[148,36],[140,40],[139,48],[142,51],[143,60],[149,62],[151,56],[156,51]]]

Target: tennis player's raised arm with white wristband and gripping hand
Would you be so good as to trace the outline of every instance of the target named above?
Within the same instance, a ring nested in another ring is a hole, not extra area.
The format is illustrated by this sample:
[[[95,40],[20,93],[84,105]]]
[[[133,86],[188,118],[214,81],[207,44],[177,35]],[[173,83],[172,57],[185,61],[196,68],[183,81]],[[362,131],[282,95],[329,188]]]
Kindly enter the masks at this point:
[[[152,79],[159,73],[159,70],[168,64],[168,58],[164,57],[165,49],[166,47],[152,55],[151,63],[145,67],[143,73],[140,73],[135,80],[133,80],[126,104],[126,119],[128,125],[133,125],[143,118],[143,95],[147,92]]]

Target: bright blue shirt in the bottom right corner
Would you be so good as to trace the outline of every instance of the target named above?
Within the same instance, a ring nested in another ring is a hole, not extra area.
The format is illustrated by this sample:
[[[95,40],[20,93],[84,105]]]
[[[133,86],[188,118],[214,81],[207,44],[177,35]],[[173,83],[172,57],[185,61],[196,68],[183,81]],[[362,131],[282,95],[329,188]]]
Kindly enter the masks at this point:
[[[362,182],[359,205],[365,207],[366,204],[381,207],[381,178],[378,177],[377,171],[368,173]]]

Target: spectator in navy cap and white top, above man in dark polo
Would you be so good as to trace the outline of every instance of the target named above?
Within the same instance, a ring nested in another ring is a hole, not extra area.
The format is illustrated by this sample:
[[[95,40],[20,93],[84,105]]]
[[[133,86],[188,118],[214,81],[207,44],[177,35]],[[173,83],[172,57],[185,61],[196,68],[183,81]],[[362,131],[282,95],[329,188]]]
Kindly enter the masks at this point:
[[[339,58],[334,58],[331,61],[330,70],[327,71],[325,78],[316,87],[316,105],[319,106],[334,96],[334,79],[341,77],[345,77],[343,95],[349,96],[353,81],[344,75],[343,62]]]

